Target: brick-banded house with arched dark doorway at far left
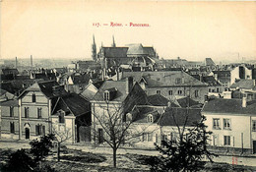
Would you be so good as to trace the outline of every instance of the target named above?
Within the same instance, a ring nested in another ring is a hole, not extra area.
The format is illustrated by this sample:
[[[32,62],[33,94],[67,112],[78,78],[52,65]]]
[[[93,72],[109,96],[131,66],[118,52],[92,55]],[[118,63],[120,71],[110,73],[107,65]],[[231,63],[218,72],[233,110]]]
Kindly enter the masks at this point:
[[[2,137],[31,140],[51,133],[52,108],[65,93],[55,81],[35,82],[18,99],[1,102]]]

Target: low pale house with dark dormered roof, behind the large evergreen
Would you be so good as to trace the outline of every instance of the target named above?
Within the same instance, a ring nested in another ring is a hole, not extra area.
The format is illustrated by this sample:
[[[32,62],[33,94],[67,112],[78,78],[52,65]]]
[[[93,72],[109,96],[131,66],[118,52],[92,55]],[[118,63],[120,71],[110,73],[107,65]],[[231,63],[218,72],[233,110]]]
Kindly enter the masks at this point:
[[[201,120],[201,108],[140,105],[130,114],[134,117],[134,123],[129,130],[141,134],[132,142],[134,146],[139,147],[154,148],[155,143],[176,140],[179,137],[178,128],[186,134],[188,129],[193,128],[195,123]]]

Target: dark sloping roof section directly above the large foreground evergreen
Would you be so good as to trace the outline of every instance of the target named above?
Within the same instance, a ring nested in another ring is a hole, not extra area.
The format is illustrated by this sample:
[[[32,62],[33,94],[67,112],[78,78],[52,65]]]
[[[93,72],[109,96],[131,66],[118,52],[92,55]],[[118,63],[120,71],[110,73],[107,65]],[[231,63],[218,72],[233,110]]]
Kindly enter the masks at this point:
[[[191,127],[201,119],[201,109],[168,108],[160,117],[160,126],[183,126]]]

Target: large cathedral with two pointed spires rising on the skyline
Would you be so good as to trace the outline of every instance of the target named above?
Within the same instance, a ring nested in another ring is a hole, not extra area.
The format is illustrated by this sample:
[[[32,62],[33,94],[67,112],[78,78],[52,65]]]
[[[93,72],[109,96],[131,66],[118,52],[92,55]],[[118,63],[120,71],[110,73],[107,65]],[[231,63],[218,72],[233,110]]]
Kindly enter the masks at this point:
[[[159,59],[154,47],[143,46],[141,43],[127,44],[126,46],[117,47],[114,36],[111,46],[100,46],[96,53],[96,41],[93,37],[92,57],[100,63],[104,69],[110,67],[120,67],[129,65],[138,68],[153,68],[156,60]]]

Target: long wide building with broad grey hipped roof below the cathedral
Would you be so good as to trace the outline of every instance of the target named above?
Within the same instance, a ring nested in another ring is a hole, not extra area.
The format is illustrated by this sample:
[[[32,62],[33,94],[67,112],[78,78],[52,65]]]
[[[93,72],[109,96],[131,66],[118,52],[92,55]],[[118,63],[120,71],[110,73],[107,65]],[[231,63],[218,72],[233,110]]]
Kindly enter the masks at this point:
[[[122,79],[133,77],[148,95],[156,93],[176,99],[190,95],[195,101],[204,102],[208,86],[183,71],[123,72]]]

